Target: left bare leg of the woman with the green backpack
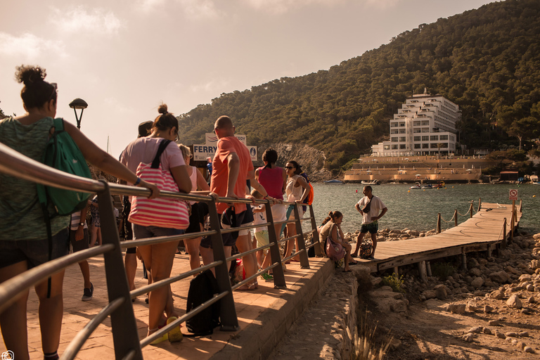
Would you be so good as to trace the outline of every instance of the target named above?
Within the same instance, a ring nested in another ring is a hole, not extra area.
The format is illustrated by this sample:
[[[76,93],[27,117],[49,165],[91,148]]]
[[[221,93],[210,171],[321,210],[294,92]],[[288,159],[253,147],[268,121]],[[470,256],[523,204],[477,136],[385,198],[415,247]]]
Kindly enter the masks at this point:
[[[26,271],[27,262],[18,262],[0,269],[0,283]],[[26,325],[26,304],[29,290],[0,314],[0,327],[6,349],[16,354],[16,359],[30,359]]]

